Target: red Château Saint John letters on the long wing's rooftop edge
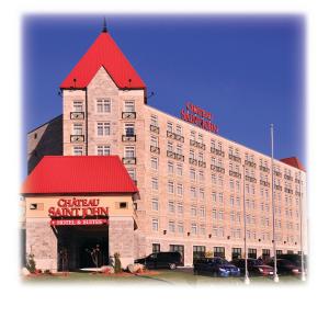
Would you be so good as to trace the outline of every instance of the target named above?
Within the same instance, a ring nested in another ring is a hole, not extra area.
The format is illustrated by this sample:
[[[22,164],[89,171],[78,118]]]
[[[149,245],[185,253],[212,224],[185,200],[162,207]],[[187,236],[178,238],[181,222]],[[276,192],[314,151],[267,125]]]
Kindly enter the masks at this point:
[[[185,107],[181,110],[181,118],[205,131],[215,134],[218,133],[218,126],[212,123],[213,114],[201,109],[200,106],[192,104],[191,102],[188,102]]]

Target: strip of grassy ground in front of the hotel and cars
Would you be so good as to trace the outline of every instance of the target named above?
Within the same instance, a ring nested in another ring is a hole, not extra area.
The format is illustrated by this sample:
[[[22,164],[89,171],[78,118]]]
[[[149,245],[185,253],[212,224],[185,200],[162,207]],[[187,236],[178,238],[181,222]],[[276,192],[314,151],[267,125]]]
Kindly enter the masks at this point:
[[[106,283],[106,284],[151,284],[151,285],[245,285],[243,276],[240,277],[212,277],[207,275],[193,275],[191,271],[182,270],[157,270],[158,274],[138,274],[125,276],[92,274],[92,273],[78,273],[71,272],[67,276],[63,275],[41,275],[24,277],[23,282],[27,284],[37,283]],[[271,277],[250,277],[251,284],[257,285],[277,285]],[[280,276],[279,285],[300,285],[305,284],[299,277],[295,276]]]

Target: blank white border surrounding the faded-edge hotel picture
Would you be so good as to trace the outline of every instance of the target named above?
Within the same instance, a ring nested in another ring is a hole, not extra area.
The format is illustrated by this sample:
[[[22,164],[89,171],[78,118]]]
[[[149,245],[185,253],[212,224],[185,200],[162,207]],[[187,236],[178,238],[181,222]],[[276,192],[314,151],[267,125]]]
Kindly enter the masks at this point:
[[[328,311],[327,132],[329,11],[326,1],[19,1],[1,8],[1,327],[307,328]],[[307,19],[309,277],[303,286],[24,285],[18,277],[21,16],[26,13],[298,13]],[[321,320],[321,325],[319,322]],[[328,325],[327,325],[328,326]]]

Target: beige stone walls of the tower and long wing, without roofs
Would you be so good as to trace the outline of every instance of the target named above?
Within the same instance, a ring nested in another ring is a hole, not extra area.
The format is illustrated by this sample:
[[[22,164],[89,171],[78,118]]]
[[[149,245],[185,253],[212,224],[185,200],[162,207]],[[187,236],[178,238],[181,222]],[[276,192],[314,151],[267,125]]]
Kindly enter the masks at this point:
[[[73,155],[76,146],[83,146],[88,155],[98,155],[99,146],[110,146],[111,154],[123,158],[137,181],[140,200],[136,201],[135,258],[150,253],[152,243],[160,243],[163,251],[170,245],[184,246],[186,265],[193,262],[193,246],[204,246],[207,251],[225,247],[227,259],[231,258],[231,248],[243,251],[243,177],[248,248],[256,249],[257,257],[263,249],[273,254],[269,156],[145,104],[143,90],[118,90],[103,68],[87,90],[64,90],[63,100],[64,155]],[[77,100],[82,102],[80,120],[71,118]],[[110,100],[111,112],[98,113],[98,100]],[[133,115],[125,114],[125,101],[134,101]],[[151,116],[157,123],[151,122]],[[70,139],[75,123],[82,123],[83,141]],[[110,123],[109,136],[98,136],[98,123]],[[136,140],[125,137],[125,124],[134,125]],[[128,162],[126,147],[135,150]],[[195,159],[190,160],[193,152]],[[152,159],[157,159],[157,169],[151,167]],[[306,174],[279,160],[274,166],[276,249],[297,252],[299,181],[305,213]],[[158,211],[152,208],[152,201],[158,203]],[[306,232],[305,222],[303,225]]]

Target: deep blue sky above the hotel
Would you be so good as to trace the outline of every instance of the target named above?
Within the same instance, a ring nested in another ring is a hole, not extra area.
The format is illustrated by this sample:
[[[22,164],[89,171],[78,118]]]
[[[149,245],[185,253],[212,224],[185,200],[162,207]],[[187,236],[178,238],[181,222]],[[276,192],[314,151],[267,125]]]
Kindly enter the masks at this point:
[[[274,157],[305,154],[302,15],[25,15],[22,22],[22,161],[26,134],[61,114],[59,86],[107,30],[147,86],[148,104],[180,116],[213,113],[219,135]]]

